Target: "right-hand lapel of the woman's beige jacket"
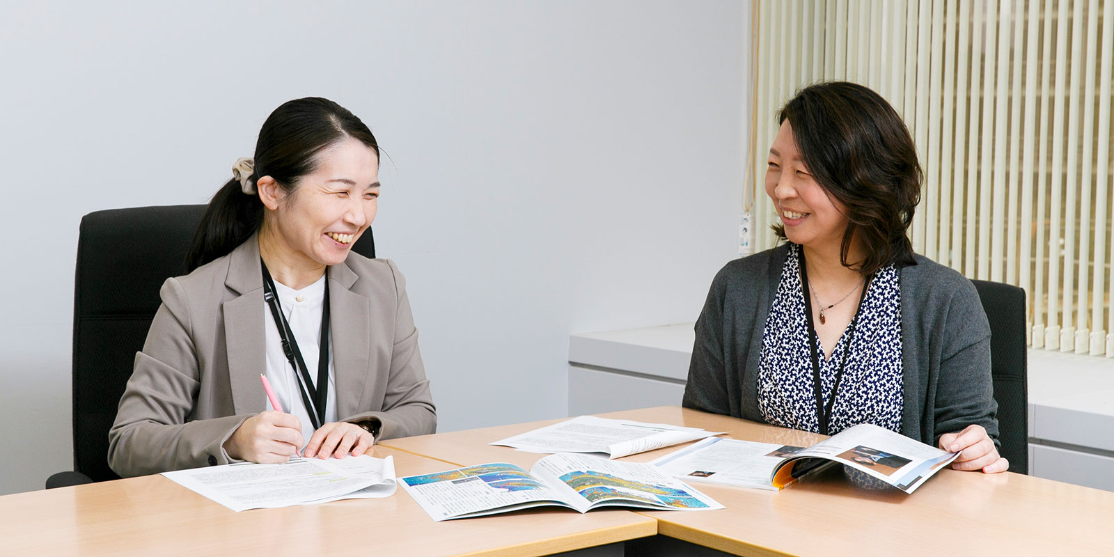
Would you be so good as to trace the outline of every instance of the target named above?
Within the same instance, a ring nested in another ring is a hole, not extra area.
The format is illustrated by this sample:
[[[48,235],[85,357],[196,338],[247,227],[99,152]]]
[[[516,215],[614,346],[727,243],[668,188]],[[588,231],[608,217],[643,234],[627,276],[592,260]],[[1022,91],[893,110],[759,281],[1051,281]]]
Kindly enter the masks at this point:
[[[333,339],[336,416],[359,413],[371,358],[371,309],[368,296],[353,292],[359,276],[344,263],[329,267],[330,333]]]

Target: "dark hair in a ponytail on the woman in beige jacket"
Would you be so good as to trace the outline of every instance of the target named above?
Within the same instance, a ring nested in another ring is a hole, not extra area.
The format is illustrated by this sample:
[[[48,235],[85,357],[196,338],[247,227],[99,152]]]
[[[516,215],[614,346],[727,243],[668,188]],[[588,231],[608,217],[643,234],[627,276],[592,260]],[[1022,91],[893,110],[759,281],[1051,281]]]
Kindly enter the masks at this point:
[[[379,143],[368,126],[344,107],[320,97],[283,102],[275,108],[255,143],[252,183],[271,176],[289,194],[302,176],[317,166],[316,155],[345,138],[355,139],[375,152]],[[209,201],[186,254],[186,272],[228,253],[255,234],[263,224],[263,202],[245,194],[233,178]]]

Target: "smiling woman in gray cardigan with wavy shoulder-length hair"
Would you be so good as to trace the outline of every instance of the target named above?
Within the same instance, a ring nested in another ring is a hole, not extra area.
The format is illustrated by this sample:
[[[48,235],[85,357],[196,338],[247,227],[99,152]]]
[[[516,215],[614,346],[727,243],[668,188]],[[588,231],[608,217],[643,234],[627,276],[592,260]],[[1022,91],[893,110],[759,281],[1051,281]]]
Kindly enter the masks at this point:
[[[684,405],[825,434],[873,423],[1005,471],[978,293],[906,235],[922,174],[900,116],[828,82],[778,119],[765,189],[788,242],[716,274]]]

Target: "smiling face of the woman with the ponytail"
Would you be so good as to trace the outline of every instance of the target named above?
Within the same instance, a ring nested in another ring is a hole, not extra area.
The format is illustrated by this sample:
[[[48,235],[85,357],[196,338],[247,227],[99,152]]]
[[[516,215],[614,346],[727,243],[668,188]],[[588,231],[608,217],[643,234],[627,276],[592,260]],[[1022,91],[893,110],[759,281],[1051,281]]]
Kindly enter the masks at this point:
[[[375,219],[375,152],[348,138],[323,149],[316,163],[286,195],[270,177],[260,178],[260,198],[268,209],[260,237],[264,260],[273,254],[291,270],[336,265]]]

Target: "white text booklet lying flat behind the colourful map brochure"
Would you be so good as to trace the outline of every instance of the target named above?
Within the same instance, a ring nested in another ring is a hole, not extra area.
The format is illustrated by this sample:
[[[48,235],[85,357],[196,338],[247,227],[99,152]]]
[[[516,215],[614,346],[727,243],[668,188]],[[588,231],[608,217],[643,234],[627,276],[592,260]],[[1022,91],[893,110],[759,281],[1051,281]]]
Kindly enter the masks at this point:
[[[528,452],[603,452],[619,458],[720,433],[724,432],[582,416],[488,444]]]

